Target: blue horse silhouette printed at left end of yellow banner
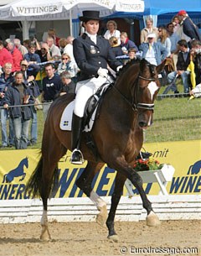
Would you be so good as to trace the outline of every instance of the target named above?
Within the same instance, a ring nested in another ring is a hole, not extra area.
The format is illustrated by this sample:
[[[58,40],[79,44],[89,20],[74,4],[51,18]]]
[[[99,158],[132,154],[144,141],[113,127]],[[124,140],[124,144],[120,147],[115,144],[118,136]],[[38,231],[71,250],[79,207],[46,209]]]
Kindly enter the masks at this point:
[[[22,176],[22,178],[19,181],[24,180],[26,173],[23,171],[23,167],[26,166],[28,168],[28,157],[21,160],[18,167],[16,167],[13,170],[10,170],[8,174],[3,175],[3,183],[6,182],[12,182],[14,178]]]

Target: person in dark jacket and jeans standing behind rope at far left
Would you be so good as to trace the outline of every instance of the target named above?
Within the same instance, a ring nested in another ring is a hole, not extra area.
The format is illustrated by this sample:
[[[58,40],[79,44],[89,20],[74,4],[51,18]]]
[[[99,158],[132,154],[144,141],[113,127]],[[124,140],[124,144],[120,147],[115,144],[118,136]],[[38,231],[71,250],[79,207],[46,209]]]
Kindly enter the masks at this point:
[[[15,81],[13,85],[6,91],[3,107],[8,109],[9,106],[24,105],[23,107],[10,107],[9,113],[13,122],[15,148],[27,149],[31,110],[26,104],[32,104],[33,99],[31,97],[31,91],[23,83],[23,73],[17,71],[14,77]]]

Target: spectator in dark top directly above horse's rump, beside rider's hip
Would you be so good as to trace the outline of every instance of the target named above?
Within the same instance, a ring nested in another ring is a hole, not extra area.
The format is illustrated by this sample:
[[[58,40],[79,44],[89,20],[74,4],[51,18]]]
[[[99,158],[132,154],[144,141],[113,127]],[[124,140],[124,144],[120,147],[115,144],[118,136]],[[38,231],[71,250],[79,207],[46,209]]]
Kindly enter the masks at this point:
[[[64,71],[60,74],[62,86],[59,95],[62,96],[66,93],[75,93],[75,82],[71,80],[70,72]]]

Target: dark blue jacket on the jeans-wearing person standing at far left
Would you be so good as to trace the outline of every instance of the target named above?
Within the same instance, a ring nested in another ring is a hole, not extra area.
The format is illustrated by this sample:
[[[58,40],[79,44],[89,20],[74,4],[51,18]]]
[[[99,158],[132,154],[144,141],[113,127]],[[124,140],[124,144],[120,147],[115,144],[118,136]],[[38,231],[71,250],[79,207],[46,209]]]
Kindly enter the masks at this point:
[[[30,89],[23,83],[23,94],[31,96]],[[21,105],[20,102],[20,93],[18,91],[18,86],[13,82],[12,86],[8,87],[6,91],[5,97],[3,99],[3,104],[8,104],[8,106]],[[28,104],[33,104],[33,97],[30,97],[28,100]],[[11,118],[20,118],[22,117],[24,120],[28,120],[32,118],[32,112],[29,106],[24,105],[24,107],[10,107],[9,113]]]

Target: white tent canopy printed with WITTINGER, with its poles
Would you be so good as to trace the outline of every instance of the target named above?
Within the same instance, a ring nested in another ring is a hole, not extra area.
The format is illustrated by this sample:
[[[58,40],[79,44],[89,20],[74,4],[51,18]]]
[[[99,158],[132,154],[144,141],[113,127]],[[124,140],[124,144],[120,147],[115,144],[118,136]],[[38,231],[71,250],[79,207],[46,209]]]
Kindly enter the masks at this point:
[[[36,20],[79,18],[83,10],[99,10],[101,17],[115,12],[139,13],[144,11],[142,0],[18,0],[0,8],[0,19],[21,21],[23,38],[28,38],[28,22]]]

